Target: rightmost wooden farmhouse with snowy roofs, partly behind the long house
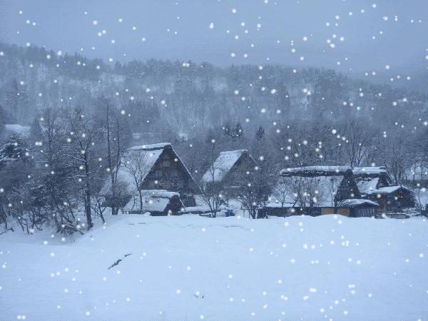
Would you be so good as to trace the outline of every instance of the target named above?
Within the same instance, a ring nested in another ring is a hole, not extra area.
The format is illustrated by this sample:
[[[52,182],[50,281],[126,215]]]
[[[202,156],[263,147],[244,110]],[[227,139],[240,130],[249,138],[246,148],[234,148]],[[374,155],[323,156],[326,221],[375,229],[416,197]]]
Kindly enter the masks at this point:
[[[355,181],[363,198],[379,203],[379,213],[397,213],[416,204],[409,188],[394,185],[384,167],[354,168]]]

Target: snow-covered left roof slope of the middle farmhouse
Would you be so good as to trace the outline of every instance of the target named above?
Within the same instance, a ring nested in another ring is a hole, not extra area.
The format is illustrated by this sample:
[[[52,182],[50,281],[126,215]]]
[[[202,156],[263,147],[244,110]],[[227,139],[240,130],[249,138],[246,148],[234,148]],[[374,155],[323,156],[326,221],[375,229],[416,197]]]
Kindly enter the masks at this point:
[[[240,159],[243,153],[248,153],[246,149],[237,151],[223,151],[214,161],[213,165],[208,168],[202,177],[203,183],[220,182],[225,175],[233,168],[233,165]]]

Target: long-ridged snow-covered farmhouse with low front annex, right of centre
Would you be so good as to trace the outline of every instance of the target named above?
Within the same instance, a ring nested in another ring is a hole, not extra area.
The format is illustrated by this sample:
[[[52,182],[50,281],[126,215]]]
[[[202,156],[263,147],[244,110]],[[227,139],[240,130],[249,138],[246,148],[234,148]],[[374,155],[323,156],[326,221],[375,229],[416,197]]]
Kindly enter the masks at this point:
[[[287,168],[280,176],[284,190],[270,197],[267,215],[376,214],[378,204],[362,198],[352,170],[346,166]]]

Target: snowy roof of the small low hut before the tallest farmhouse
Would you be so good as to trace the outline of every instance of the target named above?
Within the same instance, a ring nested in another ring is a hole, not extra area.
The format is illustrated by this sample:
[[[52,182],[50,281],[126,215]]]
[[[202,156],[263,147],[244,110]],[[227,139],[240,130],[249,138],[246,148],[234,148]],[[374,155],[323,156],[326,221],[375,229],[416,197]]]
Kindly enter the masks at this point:
[[[170,199],[174,196],[180,197],[180,194],[168,192],[167,190],[142,190],[143,194],[143,211],[144,212],[163,212],[168,206]],[[184,208],[183,203],[181,203]],[[123,208],[126,212],[140,210],[140,197],[133,195],[128,204]]]

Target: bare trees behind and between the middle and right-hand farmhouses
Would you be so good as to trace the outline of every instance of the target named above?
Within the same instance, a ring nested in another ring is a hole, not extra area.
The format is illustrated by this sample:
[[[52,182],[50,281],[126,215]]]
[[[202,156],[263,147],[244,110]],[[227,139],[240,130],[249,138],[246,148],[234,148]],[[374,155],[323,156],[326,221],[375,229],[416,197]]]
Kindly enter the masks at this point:
[[[282,205],[290,200],[302,209],[334,198],[340,181],[317,182],[307,178],[279,178],[282,168],[308,165],[384,166],[395,184],[427,187],[428,129],[422,128],[411,136],[399,132],[387,134],[367,123],[346,121],[336,128],[331,124],[296,122],[282,126],[279,131],[267,132],[260,126],[255,135],[245,133],[238,124],[210,130],[203,138],[193,139],[181,153],[193,165],[194,175],[200,178],[209,173],[203,185],[203,201],[215,216],[220,206],[231,198],[239,200],[250,216],[257,218],[270,196]],[[237,133],[240,133],[239,135]],[[215,163],[220,151],[248,148],[255,165],[247,173],[238,173],[227,180],[218,180],[215,173],[223,164]],[[189,153],[193,149],[193,153]],[[202,151],[202,152],[200,152]],[[196,158],[195,155],[202,157]],[[215,165],[214,165],[215,164]],[[230,186],[233,186],[231,193]],[[334,204],[331,204],[334,206]]]

